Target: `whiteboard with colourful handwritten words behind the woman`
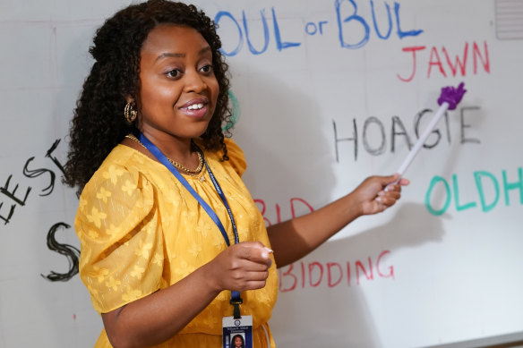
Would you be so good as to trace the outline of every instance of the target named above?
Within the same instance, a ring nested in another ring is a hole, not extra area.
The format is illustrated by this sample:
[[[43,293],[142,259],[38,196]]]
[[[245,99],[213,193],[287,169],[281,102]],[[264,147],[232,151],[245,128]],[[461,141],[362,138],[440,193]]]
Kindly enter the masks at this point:
[[[94,30],[127,2],[0,0],[0,347],[90,347],[60,182]],[[279,346],[485,346],[523,339],[521,1],[197,1],[219,22],[234,139],[266,223],[399,168],[444,86],[467,94],[399,204],[279,270]],[[47,247],[56,242],[69,258]],[[43,275],[43,276],[41,276]]]

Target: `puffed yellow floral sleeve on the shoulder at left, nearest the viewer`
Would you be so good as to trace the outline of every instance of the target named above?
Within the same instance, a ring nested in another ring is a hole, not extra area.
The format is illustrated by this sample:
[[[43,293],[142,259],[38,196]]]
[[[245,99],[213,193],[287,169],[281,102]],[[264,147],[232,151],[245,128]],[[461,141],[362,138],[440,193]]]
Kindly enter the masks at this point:
[[[102,166],[81,193],[74,226],[80,276],[100,313],[157,291],[164,247],[155,190],[136,169]]]

